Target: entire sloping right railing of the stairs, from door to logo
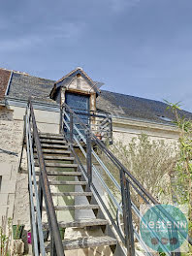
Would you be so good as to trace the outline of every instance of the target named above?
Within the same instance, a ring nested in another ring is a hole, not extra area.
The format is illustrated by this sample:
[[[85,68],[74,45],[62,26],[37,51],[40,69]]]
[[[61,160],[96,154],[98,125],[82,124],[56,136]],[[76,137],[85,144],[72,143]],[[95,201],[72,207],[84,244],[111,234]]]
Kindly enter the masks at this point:
[[[72,152],[82,173],[86,176],[91,190],[111,221],[115,234],[124,244],[125,254],[136,255],[135,241],[137,240],[146,255],[153,255],[139,235],[140,223],[146,225],[140,207],[142,205],[156,206],[161,213],[159,215],[154,209],[159,219],[162,220],[163,218],[164,220],[166,218],[172,223],[175,220],[66,104],[63,105],[62,116],[64,135],[70,134],[66,139],[70,142]],[[82,146],[80,141],[85,146]],[[97,151],[99,152],[96,153],[92,148],[92,143],[97,144]],[[78,144],[81,155],[86,159],[86,166],[82,164],[82,156],[79,156],[74,144]],[[115,178],[113,175],[116,175]],[[108,195],[107,200],[103,196],[102,189]],[[173,252],[165,246],[158,234],[151,230],[150,226],[146,225],[146,227],[158,241],[162,251],[167,255],[173,255]],[[176,232],[176,236],[179,233],[179,236],[184,237],[181,231],[177,230]],[[187,241],[192,244],[189,237]],[[179,254],[179,251],[175,253],[175,255]]]

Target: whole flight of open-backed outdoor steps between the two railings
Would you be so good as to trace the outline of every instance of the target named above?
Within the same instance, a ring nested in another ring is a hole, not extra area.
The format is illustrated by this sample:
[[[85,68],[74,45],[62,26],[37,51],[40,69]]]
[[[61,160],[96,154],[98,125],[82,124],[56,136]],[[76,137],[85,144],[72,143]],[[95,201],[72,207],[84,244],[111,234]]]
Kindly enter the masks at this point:
[[[79,165],[76,163],[75,157],[72,156],[72,151],[70,150],[67,141],[64,140],[62,135],[56,134],[40,134],[40,141],[47,167],[48,182],[50,185],[50,191],[53,198],[56,215],[58,211],[63,211],[63,219],[62,217],[57,219],[59,228],[65,229],[65,234],[67,233],[68,228],[73,229],[74,234],[76,234],[76,229],[78,229],[79,234],[80,230],[82,234],[84,234],[84,230],[86,230],[86,234],[88,234],[87,231],[91,231],[91,236],[87,235],[84,237],[82,235],[78,239],[75,239],[74,237],[71,240],[63,240],[64,250],[109,246],[110,250],[108,251],[108,254],[105,255],[113,254],[117,240],[108,236],[107,233],[109,230],[109,223],[102,214],[102,211],[99,205],[96,203],[96,200],[90,190],[90,187],[87,184],[87,181],[85,180],[83,174],[80,172]],[[36,149],[34,152],[36,153]],[[35,167],[37,170],[39,167],[37,154],[34,155],[34,158],[36,160]],[[38,170],[36,171],[36,175],[39,175]],[[74,190],[74,188],[77,186],[81,187],[81,189],[79,189],[81,190],[80,192]],[[59,189],[59,187],[62,189]],[[67,197],[71,198],[70,205],[56,204],[56,199],[58,198],[61,198],[60,202],[69,202]],[[76,202],[75,199],[82,197],[87,199],[87,204],[72,204]],[[88,209],[91,210],[94,217],[89,218],[87,216],[83,219],[76,219],[76,217],[71,220],[65,219],[66,211],[72,212],[72,215],[75,216],[75,211],[80,209],[85,211]],[[43,208],[43,210],[45,210],[45,208]],[[61,216],[61,214],[59,215]],[[102,218],[99,217],[101,215],[103,216]],[[48,229],[48,223],[43,223],[43,227]],[[73,230],[71,231],[72,234]],[[100,235],[98,236],[98,234]],[[49,249],[50,247],[47,245],[46,250],[49,251]]]

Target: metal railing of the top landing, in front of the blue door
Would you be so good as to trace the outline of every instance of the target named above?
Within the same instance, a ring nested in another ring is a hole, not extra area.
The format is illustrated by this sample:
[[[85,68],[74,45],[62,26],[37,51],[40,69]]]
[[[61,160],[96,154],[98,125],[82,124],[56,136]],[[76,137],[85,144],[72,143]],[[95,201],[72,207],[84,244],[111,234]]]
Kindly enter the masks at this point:
[[[112,144],[112,116],[109,113],[79,109],[72,109],[72,111],[80,116],[80,121],[83,122],[86,128],[89,128],[100,141]],[[61,126],[62,123],[63,121],[61,119]],[[80,126],[79,129],[81,129]],[[81,130],[81,132],[83,131]]]

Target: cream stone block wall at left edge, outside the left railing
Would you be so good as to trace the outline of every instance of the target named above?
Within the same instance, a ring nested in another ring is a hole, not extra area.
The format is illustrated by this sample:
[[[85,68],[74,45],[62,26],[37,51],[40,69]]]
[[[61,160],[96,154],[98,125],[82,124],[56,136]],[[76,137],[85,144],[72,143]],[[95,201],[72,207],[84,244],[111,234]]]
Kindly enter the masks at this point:
[[[0,108],[0,221],[13,217],[16,175],[22,141],[22,121],[13,119],[13,111]]]

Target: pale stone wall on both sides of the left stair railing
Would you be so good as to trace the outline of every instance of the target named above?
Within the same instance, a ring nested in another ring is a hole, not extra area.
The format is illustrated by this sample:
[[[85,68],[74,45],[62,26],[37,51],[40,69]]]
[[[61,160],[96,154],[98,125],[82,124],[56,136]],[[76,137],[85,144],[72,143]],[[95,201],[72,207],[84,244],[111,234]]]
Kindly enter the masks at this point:
[[[0,221],[1,216],[12,217],[30,229],[28,175],[18,173],[23,137],[25,108],[0,107]],[[45,133],[59,132],[59,112],[35,110],[38,129]],[[26,169],[26,151],[23,150],[22,169]]]

